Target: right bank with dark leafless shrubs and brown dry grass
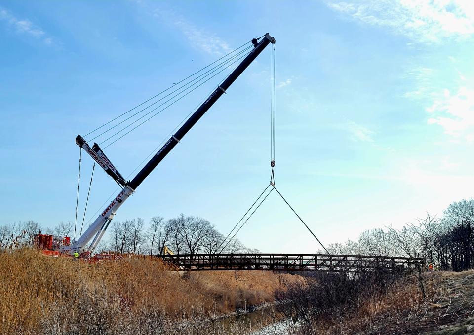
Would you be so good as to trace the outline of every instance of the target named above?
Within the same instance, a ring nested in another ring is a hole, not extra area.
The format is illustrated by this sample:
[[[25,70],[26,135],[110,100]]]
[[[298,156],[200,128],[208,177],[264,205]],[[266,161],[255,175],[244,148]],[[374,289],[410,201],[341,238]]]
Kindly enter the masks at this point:
[[[290,312],[297,311],[300,322],[288,323],[287,334],[474,333],[474,271],[425,273],[423,280],[426,298],[417,278],[306,278],[303,287],[291,284],[283,295],[304,296],[292,297],[298,305]]]

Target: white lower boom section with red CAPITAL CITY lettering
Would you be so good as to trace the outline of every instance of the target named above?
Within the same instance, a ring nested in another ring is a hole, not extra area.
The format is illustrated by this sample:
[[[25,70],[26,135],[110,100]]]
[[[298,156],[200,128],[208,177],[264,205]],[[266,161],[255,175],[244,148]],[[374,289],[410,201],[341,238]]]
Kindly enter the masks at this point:
[[[128,199],[130,195],[135,193],[135,190],[125,186],[120,193],[115,197],[114,200],[107,206],[107,208],[99,215],[99,217],[87,228],[87,230],[79,237],[79,239],[72,244],[71,246],[61,247],[60,251],[64,253],[74,254],[78,252],[79,254],[85,251],[92,253],[99,243],[102,236],[104,236],[107,227],[115,216],[118,208]],[[95,237],[94,237],[95,235]],[[92,239],[92,243],[87,248],[87,243]]]

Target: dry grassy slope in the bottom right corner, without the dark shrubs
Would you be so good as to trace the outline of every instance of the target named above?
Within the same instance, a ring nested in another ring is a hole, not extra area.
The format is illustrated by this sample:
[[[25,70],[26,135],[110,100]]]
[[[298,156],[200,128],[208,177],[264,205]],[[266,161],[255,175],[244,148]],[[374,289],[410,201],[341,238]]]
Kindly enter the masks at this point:
[[[416,279],[403,278],[385,293],[357,298],[351,310],[309,316],[290,334],[474,334],[474,271],[426,273],[424,280],[425,299]]]

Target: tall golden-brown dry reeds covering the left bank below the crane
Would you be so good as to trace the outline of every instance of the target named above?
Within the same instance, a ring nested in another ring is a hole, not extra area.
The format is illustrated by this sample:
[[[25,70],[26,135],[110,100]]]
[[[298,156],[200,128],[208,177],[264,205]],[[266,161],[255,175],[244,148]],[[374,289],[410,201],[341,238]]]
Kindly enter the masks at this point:
[[[0,333],[120,334],[135,325],[134,334],[145,326],[149,334],[172,320],[273,302],[281,280],[263,271],[167,270],[145,257],[89,264],[28,249],[0,253]]]

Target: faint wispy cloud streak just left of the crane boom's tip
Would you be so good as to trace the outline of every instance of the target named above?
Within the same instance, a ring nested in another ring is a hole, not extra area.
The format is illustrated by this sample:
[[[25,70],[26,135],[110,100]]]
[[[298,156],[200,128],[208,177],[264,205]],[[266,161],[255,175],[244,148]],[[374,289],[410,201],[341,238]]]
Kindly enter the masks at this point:
[[[198,28],[181,14],[174,10],[158,8],[154,16],[176,27],[197,49],[211,55],[222,56],[232,51],[229,44],[217,34]]]

